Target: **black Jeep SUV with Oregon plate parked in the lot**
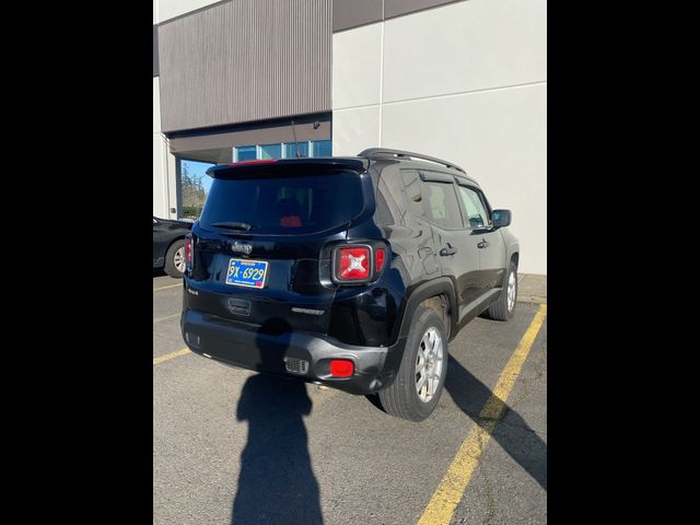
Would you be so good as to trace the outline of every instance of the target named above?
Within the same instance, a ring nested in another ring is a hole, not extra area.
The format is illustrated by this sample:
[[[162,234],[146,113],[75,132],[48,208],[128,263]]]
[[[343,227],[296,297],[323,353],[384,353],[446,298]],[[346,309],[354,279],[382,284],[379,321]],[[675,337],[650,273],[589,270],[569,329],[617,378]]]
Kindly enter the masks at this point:
[[[511,213],[460,167],[405,151],[218,165],[185,246],[180,326],[201,355],[420,421],[447,341],[517,293]]]

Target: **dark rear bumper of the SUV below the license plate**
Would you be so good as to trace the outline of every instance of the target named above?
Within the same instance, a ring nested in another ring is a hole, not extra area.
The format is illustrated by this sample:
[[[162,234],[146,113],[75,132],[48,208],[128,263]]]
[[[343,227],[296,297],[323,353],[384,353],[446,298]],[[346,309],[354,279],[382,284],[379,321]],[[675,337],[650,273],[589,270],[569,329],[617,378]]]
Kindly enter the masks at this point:
[[[189,349],[200,355],[243,369],[319,382],[358,395],[372,394],[392,384],[406,345],[406,339],[399,339],[392,347],[360,347],[313,334],[271,335],[259,331],[255,325],[195,310],[183,312],[180,328]],[[290,372],[285,358],[287,362],[296,365],[306,361],[307,370]],[[332,377],[331,359],[352,361],[354,374]]]

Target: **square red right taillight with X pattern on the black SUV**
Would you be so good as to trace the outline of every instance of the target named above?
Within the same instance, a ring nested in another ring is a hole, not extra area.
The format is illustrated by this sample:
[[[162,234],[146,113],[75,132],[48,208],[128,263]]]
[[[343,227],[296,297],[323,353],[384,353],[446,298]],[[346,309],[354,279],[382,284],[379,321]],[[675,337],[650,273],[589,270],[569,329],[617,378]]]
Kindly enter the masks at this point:
[[[341,244],[332,256],[332,280],[339,284],[374,281],[386,258],[386,250],[370,244]]]

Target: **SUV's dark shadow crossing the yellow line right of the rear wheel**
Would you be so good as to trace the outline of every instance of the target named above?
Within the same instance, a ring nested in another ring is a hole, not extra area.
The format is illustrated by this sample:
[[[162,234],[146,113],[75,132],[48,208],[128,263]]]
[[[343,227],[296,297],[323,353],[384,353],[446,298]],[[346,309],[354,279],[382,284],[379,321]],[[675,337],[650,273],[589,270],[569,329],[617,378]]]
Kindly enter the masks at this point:
[[[491,389],[475,377],[456,359],[450,355],[445,389],[452,399],[479,427],[489,429],[493,422],[481,417],[481,410],[491,398]],[[502,399],[497,399],[503,402]],[[535,433],[525,420],[510,406],[503,410],[491,433],[501,447],[529,474],[539,486],[547,490],[547,444]]]

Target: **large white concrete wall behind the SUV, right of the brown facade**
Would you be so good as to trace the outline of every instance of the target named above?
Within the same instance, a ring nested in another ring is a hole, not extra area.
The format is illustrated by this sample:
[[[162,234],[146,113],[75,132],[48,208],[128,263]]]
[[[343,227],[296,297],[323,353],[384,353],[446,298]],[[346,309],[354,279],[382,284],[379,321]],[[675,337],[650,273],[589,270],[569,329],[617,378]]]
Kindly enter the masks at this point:
[[[334,154],[455,162],[513,211],[520,271],[547,273],[547,4],[470,0],[334,34]]]

